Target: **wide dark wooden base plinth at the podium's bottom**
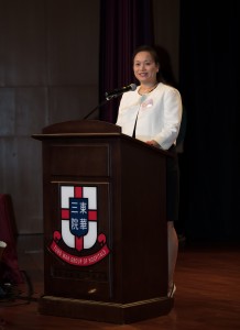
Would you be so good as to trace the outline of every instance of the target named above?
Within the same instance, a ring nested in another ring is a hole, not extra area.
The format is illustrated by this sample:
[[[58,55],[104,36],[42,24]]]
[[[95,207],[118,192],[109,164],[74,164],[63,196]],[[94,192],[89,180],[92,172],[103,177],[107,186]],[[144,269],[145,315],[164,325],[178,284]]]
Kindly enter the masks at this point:
[[[117,304],[43,296],[39,300],[39,312],[42,315],[123,324],[167,315],[173,305],[174,299],[167,297],[130,304]]]

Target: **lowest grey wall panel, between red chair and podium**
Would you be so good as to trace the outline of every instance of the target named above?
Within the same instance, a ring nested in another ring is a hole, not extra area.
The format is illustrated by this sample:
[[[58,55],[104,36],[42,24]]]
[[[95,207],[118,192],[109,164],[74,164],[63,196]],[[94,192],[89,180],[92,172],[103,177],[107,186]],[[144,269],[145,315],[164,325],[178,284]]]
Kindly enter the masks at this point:
[[[1,187],[13,199],[19,233],[43,231],[42,154],[30,138],[1,139]]]

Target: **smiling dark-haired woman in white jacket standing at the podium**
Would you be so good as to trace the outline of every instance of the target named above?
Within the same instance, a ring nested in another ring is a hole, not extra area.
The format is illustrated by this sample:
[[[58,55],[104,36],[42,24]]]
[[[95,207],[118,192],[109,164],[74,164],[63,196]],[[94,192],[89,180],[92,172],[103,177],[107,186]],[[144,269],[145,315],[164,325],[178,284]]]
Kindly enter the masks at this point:
[[[177,89],[164,84],[160,61],[154,48],[141,46],[133,54],[133,72],[140,85],[123,94],[117,119],[122,133],[159,148],[168,150],[174,157],[166,163],[166,213],[168,241],[168,297],[173,297],[174,270],[178,240],[174,222],[178,218],[178,164],[175,143],[182,120],[182,98]]]

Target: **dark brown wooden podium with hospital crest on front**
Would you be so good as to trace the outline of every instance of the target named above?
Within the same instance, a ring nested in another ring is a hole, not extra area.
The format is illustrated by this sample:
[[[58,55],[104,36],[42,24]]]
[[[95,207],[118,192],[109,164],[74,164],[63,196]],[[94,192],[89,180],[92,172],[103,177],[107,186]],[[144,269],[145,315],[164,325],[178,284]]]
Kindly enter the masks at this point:
[[[98,120],[44,128],[39,311],[131,323],[166,315],[167,153]]]

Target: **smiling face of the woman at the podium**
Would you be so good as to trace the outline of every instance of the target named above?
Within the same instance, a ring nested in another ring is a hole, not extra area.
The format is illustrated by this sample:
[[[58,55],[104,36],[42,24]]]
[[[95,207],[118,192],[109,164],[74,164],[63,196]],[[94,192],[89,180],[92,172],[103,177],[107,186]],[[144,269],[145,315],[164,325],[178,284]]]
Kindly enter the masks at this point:
[[[133,72],[140,82],[156,84],[159,65],[149,52],[140,52],[133,59]]]

